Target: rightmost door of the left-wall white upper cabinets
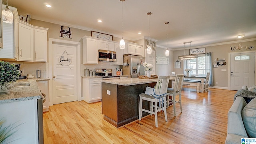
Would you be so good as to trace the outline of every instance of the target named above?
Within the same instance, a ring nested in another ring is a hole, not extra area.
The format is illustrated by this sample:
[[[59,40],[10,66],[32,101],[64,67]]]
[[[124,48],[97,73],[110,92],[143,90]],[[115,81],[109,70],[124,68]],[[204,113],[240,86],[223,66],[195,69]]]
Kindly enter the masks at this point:
[[[47,30],[34,28],[34,62],[47,61]]]

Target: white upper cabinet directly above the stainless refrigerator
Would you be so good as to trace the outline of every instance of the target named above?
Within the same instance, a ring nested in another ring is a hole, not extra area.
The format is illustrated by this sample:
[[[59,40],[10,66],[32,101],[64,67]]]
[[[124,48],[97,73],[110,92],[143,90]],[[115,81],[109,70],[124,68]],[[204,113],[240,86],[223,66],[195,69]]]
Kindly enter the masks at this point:
[[[127,42],[126,48],[124,49],[124,54],[142,56],[142,45],[133,42]]]

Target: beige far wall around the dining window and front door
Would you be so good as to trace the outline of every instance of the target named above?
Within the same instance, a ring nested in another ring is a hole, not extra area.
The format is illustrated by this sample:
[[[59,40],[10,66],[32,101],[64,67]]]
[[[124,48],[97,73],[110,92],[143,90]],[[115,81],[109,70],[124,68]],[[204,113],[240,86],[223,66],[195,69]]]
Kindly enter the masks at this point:
[[[234,46],[238,47],[239,44],[242,44],[242,46],[254,46],[251,50],[234,50],[231,51],[230,46],[234,48]],[[198,47],[200,48],[200,47]],[[249,41],[249,42],[239,42],[239,43],[233,43],[233,44],[223,44],[223,45],[218,45],[218,46],[208,46],[205,47],[206,52],[212,52],[212,64],[215,63],[215,59],[217,58],[225,58],[225,62],[227,63],[226,66],[218,66],[218,68],[213,68],[213,82],[214,86],[216,87],[223,87],[223,88],[228,88],[228,55],[230,52],[245,52],[245,51],[254,51],[256,50],[256,40],[254,41]],[[185,50],[185,54],[189,54],[189,49]],[[173,61],[176,62],[178,60],[178,56],[184,55],[184,50],[176,50],[174,51],[174,57]],[[173,70],[175,71],[176,74],[183,74],[183,60],[179,60],[181,62],[181,68],[174,68],[172,67]],[[221,71],[221,69],[225,69],[226,71]],[[218,84],[216,84],[218,82]]]

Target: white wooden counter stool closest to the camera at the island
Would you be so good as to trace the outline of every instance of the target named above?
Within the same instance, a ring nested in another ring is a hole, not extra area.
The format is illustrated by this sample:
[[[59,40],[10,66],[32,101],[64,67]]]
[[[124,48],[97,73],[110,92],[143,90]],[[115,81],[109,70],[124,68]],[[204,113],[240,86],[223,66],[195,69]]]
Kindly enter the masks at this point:
[[[167,122],[167,112],[166,112],[166,92],[169,83],[170,76],[158,76],[156,86],[152,89],[152,93],[142,93],[140,96],[140,104],[139,104],[139,120],[142,118],[142,111],[155,115],[155,123],[156,127],[158,127],[157,122],[157,112],[163,110],[165,121]],[[149,87],[148,87],[149,88]],[[146,110],[142,108],[143,100],[150,102],[150,110]]]

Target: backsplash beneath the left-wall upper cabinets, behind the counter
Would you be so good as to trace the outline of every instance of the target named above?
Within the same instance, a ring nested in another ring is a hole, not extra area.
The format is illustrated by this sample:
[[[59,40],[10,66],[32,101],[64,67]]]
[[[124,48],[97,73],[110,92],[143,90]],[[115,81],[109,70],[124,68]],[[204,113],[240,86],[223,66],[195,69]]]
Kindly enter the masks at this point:
[[[41,78],[49,78],[48,62],[10,62],[20,64],[22,76],[32,74],[36,78],[36,70],[41,70]]]

